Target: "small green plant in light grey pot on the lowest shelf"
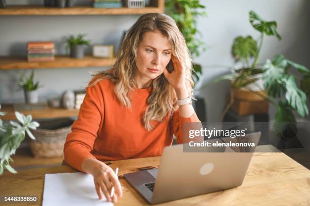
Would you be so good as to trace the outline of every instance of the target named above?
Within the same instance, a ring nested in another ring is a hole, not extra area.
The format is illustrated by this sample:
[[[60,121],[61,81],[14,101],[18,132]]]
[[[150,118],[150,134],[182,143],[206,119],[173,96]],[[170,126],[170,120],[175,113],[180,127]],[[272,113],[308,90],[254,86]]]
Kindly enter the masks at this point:
[[[24,90],[26,104],[35,104],[38,102],[37,89],[39,82],[33,80],[34,71],[32,70],[30,77],[22,77],[19,82],[19,87]]]

